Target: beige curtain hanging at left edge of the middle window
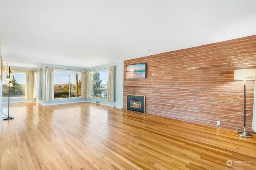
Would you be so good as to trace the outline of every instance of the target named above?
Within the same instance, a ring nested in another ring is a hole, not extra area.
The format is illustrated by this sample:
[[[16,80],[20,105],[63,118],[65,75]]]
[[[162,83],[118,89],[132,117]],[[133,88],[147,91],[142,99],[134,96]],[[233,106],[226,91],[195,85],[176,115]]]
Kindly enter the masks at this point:
[[[54,100],[54,68],[46,68],[45,74],[45,101]]]

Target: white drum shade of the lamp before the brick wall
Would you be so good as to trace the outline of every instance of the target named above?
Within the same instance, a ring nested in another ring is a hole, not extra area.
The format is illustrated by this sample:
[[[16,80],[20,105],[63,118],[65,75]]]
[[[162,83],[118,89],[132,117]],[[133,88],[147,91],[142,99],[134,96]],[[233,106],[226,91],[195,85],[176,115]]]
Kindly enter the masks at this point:
[[[234,71],[234,80],[255,80],[256,68],[239,69]]]

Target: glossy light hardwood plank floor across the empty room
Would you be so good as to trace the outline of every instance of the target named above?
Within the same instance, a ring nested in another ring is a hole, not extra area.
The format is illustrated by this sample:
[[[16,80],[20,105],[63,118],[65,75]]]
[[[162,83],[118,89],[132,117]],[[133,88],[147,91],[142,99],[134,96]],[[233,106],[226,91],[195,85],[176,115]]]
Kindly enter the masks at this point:
[[[256,167],[256,135],[92,103],[16,103],[10,114],[2,121],[1,170]]]

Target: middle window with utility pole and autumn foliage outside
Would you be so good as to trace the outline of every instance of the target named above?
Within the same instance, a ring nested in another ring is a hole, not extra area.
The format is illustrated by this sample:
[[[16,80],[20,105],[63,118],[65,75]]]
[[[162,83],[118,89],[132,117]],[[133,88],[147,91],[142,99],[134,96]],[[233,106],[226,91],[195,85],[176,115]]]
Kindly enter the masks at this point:
[[[55,70],[54,98],[73,98],[81,94],[81,73]]]

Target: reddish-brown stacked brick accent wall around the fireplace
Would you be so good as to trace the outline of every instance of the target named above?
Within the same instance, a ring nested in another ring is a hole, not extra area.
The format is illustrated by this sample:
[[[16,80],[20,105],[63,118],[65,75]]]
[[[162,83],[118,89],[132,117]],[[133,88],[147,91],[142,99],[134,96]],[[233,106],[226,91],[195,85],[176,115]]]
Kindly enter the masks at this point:
[[[126,80],[126,66],[146,63],[146,79]],[[145,112],[243,131],[244,86],[234,70],[256,68],[256,35],[124,61],[126,95],[145,95]],[[153,75],[154,73],[154,75]],[[246,83],[246,131],[252,131],[254,80]]]

